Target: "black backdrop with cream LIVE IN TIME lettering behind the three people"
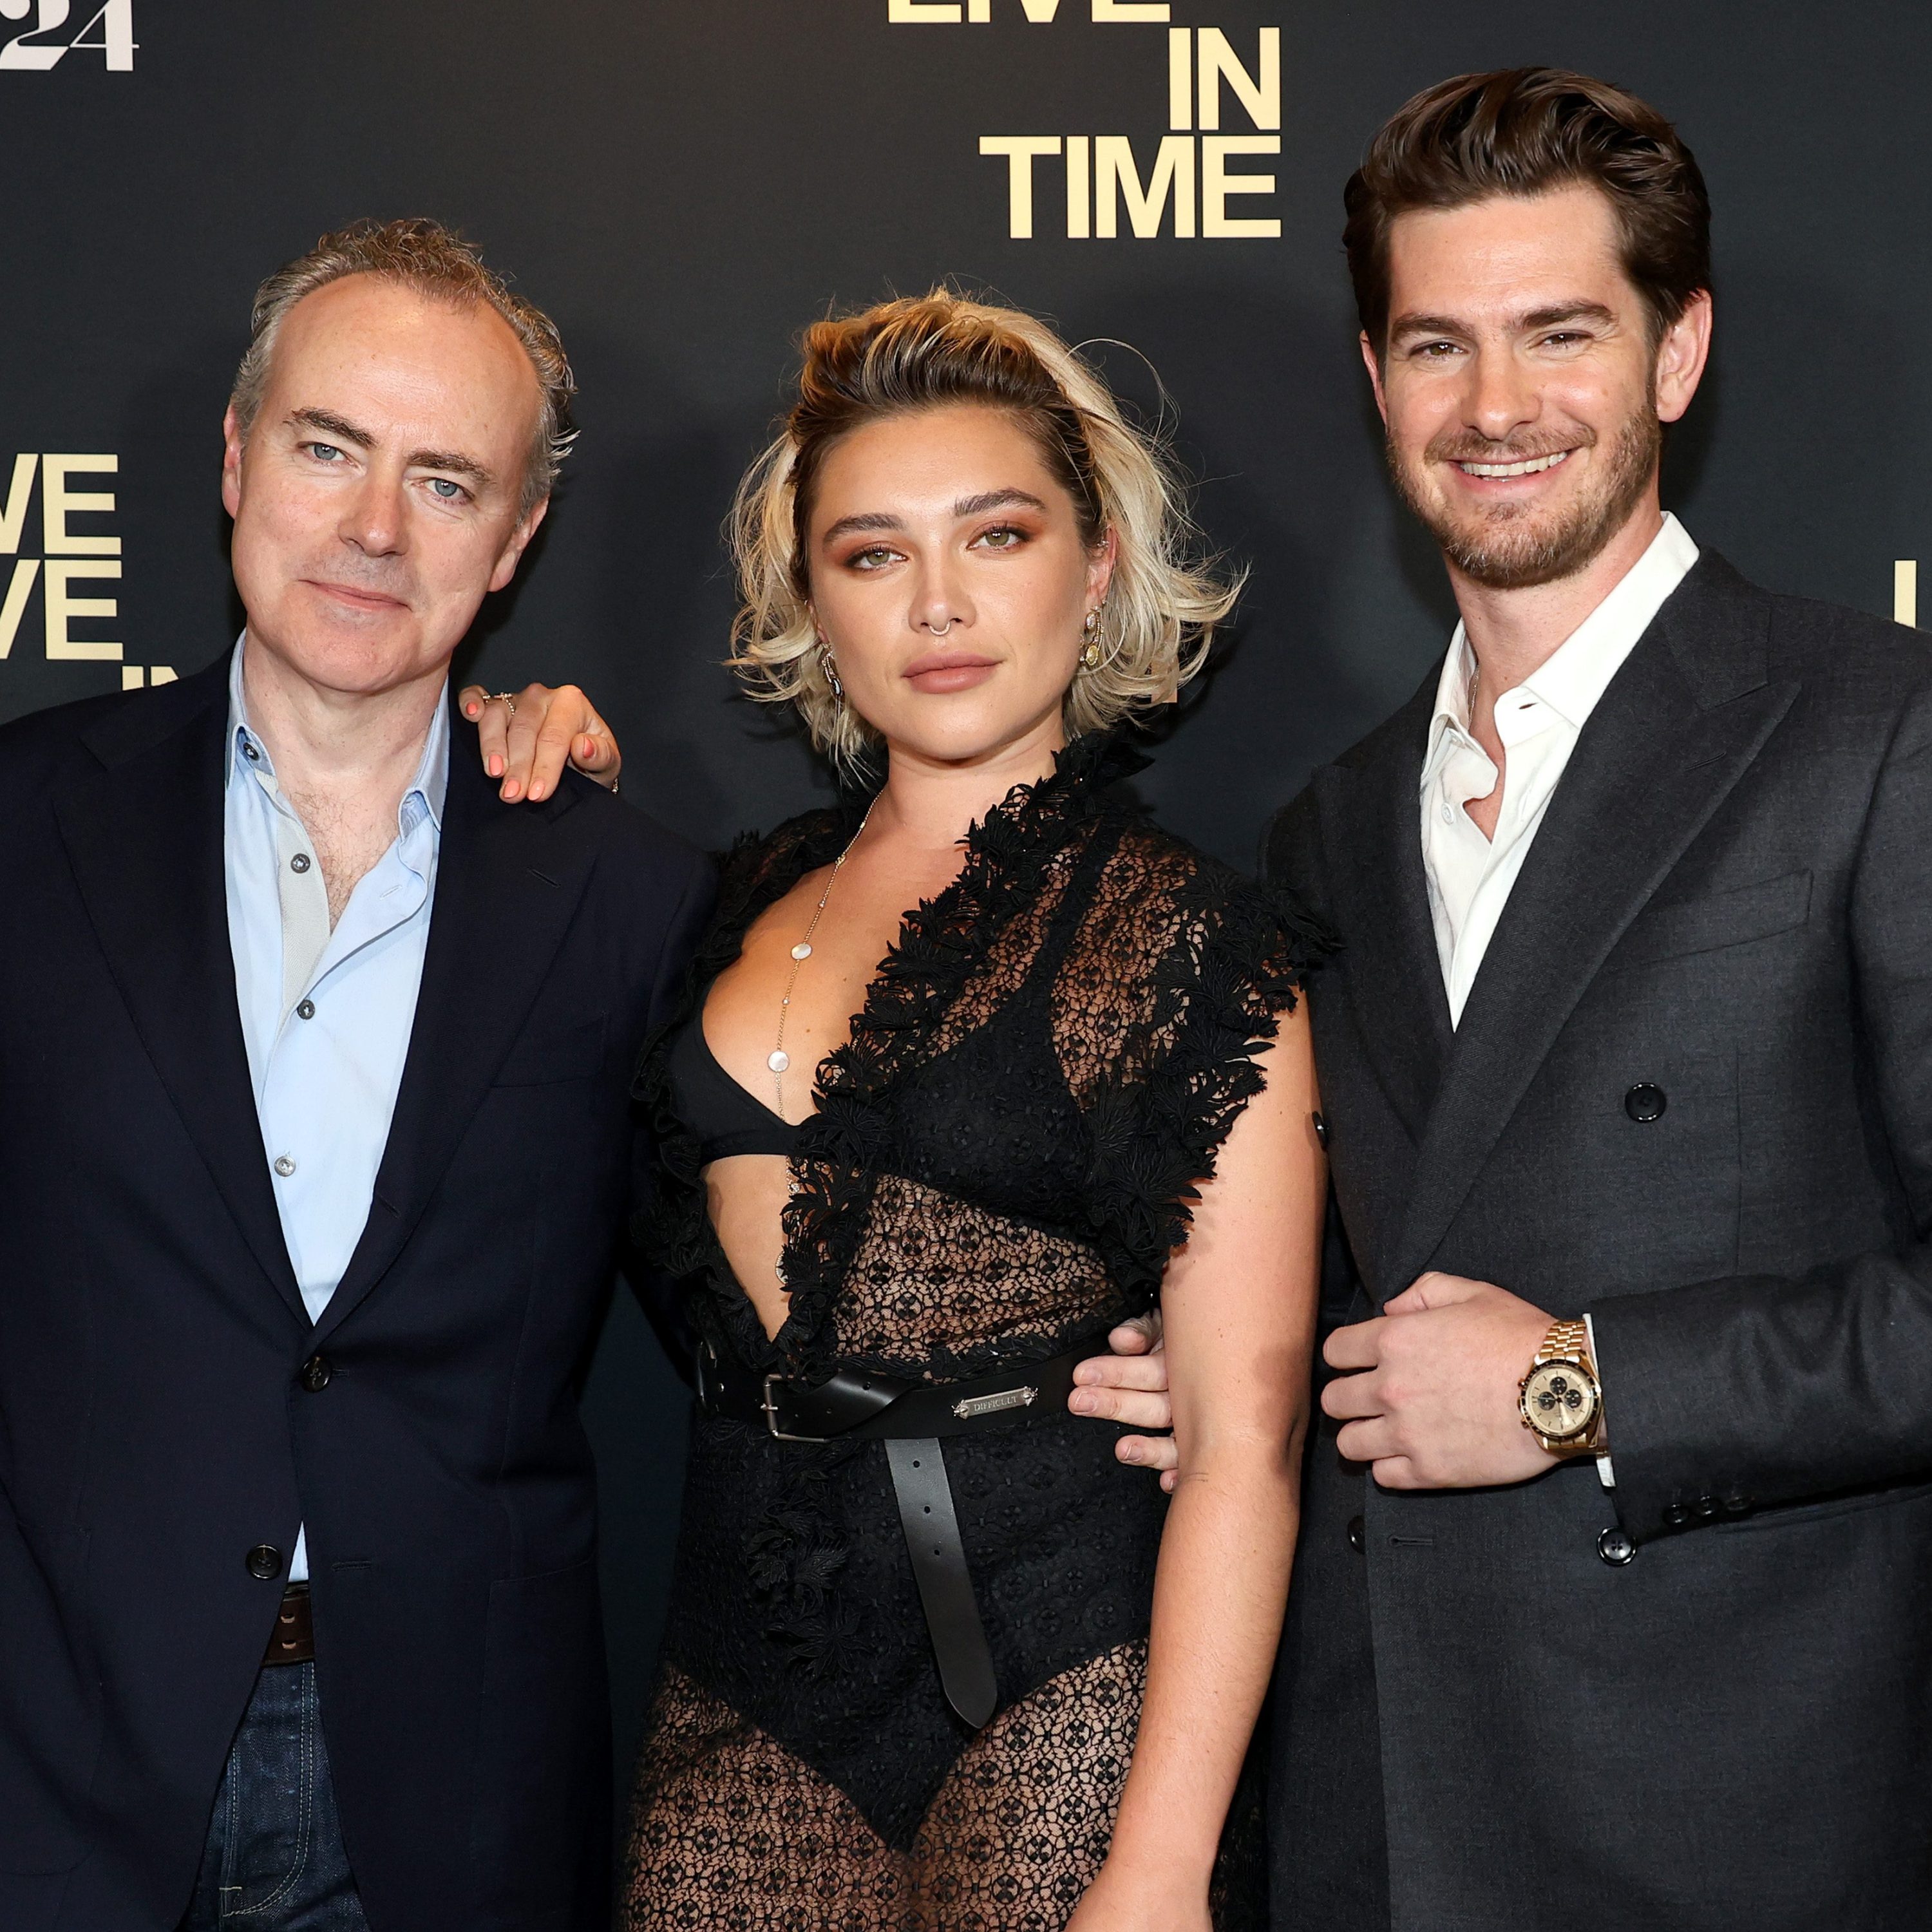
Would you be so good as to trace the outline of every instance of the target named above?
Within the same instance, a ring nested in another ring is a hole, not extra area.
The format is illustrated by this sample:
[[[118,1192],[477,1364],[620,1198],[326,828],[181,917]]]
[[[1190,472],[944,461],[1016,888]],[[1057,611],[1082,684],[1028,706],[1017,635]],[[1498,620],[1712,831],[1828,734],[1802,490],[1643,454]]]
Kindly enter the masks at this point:
[[[583,682],[626,792],[707,844],[810,804],[808,755],[719,668],[719,524],[798,328],[951,278],[1165,408],[1208,533],[1252,564],[1144,781],[1246,864],[1453,620],[1381,479],[1341,184],[1424,83],[1524,62],[1646,95],[1710,180],[1718,354],[1667,500],[1760,582],[1911,622],[1922,0],[0,0],[0,719],[226,649],[249,294],[325,228],[425,213],[558,317],[583,384],[560,500],[466,670]],[[587,1410],[622,1752],[684,1416],[624,1302]]]

